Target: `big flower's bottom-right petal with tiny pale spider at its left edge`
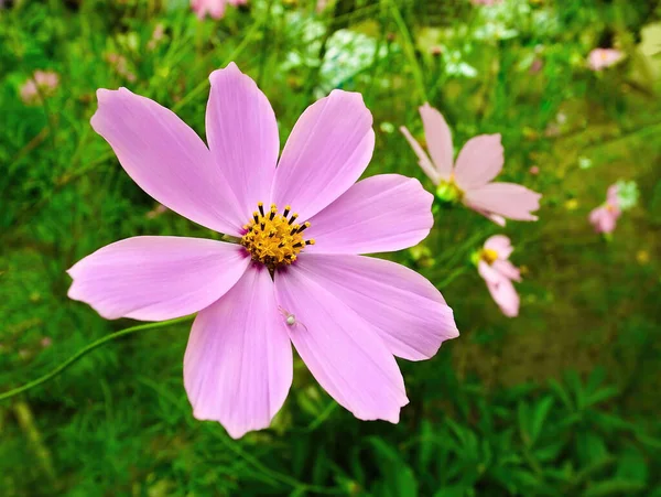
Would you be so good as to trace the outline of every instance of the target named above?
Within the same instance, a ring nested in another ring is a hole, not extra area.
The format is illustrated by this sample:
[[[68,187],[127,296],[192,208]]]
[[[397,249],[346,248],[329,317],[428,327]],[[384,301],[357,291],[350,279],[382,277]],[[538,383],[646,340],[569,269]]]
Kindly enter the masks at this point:
[[[296,316],[290,338],[321,386],[358,419],[397,423],[409,399],[375,328],[299,264],[275,274],[275,295]]]

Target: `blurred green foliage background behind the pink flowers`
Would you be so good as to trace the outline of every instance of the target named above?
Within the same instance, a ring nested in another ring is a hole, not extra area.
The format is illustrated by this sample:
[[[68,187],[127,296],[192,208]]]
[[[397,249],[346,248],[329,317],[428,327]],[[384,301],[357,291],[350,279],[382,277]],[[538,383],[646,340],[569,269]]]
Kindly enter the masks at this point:
[[[91,130],[99,87],[153,98],[204,136],[207,76],[235,61],[282,143],[316,98],[360,91],[377,131],[367,174],[431,190],[398,131],[423,140],[429,100],[455,147],[502,133],[499,179],[544,195],[538,223],[505,229],[442,208],[421,246],[386,256],[434,282],[462,332],[432,360],[400,361],[398,425],[356,420],[297,360],[272,429],[234,441],[193,419],[189,324],[173,325],[0,401],[2,496],[661,496],[661,8],[476,3],[249,0],[201,21],[185,0],[0,2],[0,392],[132,324],[66,298],[75,261],[136,235],[209,236]],[[626,58],[592,71],[596,47]],[[618,180],[636,205],[607,239],[587,215]],[[470,262],[496,233],[524,271],[516,318]]]

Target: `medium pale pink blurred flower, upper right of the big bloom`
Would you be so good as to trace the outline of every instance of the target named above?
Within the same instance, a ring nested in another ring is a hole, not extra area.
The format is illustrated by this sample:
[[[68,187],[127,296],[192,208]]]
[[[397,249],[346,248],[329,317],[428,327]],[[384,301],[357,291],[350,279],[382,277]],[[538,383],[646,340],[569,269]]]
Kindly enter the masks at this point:
[[[453,164],[452,132],[438,110],[420,107],[431,160],[405,127],[400,130],[411,144],[425,174],[437,185],[436,194],[505,226],[505,218],[537,220],[531,212],[542,195],[514,183],[490,183],[502,169],[500,134],[480,134],[466,142]]]

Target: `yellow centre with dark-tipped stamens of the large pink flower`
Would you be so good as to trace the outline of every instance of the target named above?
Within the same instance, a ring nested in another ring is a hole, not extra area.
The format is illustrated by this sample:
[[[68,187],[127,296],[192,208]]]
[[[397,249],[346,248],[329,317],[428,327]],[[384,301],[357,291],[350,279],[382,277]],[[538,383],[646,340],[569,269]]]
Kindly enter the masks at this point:
[[[264,213],[264,204],[257,204],[259,210],[252,213],[252,220],[243,226],[248,231],[241,238],[241,245],[250,252],[252,260],[261,262],[273,271],[279,266],[291,264],[305,246],[314,245],[314,240],[303,239],[302,233],[310,228],[310,223],[296,224],[297,214],[290,216],[291,207],[278,213],[275,204]]]

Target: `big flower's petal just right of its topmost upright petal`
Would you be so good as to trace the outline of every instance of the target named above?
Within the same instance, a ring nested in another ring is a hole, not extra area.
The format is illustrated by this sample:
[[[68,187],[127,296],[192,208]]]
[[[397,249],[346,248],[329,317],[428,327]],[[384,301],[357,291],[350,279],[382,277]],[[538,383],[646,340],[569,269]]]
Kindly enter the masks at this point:
[[[345,193],[375,149],[372,117],[360,94],[333,90],[294,126],[275,170],[273,202],[305,220]]]

